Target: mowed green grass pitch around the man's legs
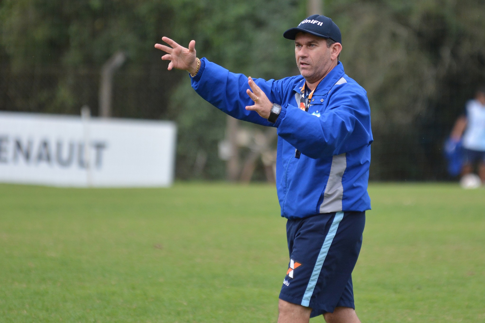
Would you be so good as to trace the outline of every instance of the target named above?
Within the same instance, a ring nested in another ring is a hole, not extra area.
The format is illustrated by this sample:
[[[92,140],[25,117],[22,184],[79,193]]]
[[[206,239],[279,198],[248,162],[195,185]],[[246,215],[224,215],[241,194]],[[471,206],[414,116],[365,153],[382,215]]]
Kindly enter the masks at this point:
[[[485,322],[485,190],[369,192],[361,321]],[[288,261],[274,186],[0,185],[0,322],[276,322]]]

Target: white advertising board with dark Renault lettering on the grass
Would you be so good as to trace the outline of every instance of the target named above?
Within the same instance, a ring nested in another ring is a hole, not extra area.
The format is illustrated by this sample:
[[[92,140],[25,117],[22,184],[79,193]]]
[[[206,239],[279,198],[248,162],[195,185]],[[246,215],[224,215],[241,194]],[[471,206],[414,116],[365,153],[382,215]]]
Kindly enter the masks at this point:
[[[169,186],[175,142],[172,122],[0,112],[0,182]]]

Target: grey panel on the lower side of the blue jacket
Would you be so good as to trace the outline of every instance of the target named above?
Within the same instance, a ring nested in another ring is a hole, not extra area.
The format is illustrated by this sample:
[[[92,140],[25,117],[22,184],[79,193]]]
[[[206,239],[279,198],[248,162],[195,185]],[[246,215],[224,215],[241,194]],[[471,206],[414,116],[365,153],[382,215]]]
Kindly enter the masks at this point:
[[[330,175],[328,176],[327,186],[323,193],[323,202],[320,205],[320,213],[342,211],[342,177],[346,168],[347,156],[345,153],[333,156]]]

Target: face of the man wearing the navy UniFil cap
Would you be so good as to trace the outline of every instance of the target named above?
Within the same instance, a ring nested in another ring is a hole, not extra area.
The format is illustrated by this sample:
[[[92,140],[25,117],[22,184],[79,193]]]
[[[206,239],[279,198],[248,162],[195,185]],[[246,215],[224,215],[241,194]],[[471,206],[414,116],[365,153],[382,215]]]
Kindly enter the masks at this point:
[[[338,43],[337,43],[338,44]],[[296,65],[300,73],[309,83],[313,83],[324,77],[336,64],[338,53],[335,55],[333,44],[327,47],[326,39],[299,32],[295,37]],[[338,44],[339,45],[339,44]],[[340,45],[339,45],[340,46]],[[335,58],[332,61],[332,58]]]

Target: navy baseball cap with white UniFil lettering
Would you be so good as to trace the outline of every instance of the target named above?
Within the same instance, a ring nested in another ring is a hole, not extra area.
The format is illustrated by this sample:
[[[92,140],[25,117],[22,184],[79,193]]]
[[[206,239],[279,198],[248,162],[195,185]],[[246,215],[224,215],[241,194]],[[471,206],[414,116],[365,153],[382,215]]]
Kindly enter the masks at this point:
[[[322,38],[330,38],[336,43],[342,44],[342,34],[339,27],[332,19],[324,15],[310,15],[307,19],[300,22],[298,27],[285,31],[283,37],[294,40],[296,34],[300,31]]]

